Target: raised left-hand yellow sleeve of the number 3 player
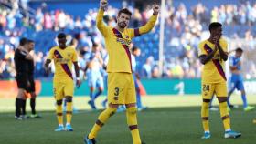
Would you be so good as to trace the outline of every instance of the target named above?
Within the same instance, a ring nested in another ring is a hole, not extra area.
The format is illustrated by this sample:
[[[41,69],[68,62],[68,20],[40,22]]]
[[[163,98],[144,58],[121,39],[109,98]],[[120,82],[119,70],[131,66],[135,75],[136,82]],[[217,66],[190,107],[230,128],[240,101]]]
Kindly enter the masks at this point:
[[[108,26],[106,26],[103,22],[103,15],[104,15],[104,11],[100,9],[96,18],[96,26],[100,30],[101,34],[104,37],[106,37],[108,35]]]

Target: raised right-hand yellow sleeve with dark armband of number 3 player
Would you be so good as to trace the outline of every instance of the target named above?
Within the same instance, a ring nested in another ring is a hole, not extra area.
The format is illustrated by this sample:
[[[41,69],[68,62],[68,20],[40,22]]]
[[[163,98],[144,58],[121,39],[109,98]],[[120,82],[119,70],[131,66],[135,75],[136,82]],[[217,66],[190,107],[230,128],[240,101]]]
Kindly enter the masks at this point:
[[[143,34],[150,32],[152,28],[155,26],[156,20],[157,20],[157,15],[152,15],[144,26],[141,26],[135,29],[130,29],[131,38],[135,36],[141,36]]]

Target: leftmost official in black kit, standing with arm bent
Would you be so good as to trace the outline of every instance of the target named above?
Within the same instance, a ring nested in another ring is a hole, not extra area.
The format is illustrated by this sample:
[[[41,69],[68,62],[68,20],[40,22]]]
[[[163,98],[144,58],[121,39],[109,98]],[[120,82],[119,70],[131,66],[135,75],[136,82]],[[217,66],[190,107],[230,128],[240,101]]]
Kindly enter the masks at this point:
[[[16,83],[18,87],[18,93],[16,97],[16,119],[22,120],[22,114],[26,114],[26,93],[27,87],[29,87],[28,81],[28,66],[27,60],[33,60],[33,57],[29,55],[27,46],[27,38],[20,39],[20,46],[15,51],[15,66],[16,66]]]

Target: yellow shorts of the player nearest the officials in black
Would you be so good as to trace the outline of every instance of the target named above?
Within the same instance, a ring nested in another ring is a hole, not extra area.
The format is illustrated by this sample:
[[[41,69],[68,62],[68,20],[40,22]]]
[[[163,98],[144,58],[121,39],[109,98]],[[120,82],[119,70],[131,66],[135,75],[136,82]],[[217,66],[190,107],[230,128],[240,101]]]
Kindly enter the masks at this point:
[[[61,100],[66,96],[73,97],[74,83],[72,79],[69,80],[54,80],[53,93],[56,100]]]

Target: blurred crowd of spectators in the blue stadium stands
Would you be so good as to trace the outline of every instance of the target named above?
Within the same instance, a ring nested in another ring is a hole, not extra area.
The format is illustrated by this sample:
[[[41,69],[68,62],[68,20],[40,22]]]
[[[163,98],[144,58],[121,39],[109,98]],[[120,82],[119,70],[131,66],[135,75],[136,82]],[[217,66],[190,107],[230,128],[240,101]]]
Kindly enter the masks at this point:
[[[51,46],[55,46],[55,36],[59,31],[69,34],[69,43],[75,42],[80,55],[80,66],[85,65],[86,53],[91,51],[93,43],[101,45],[101,55],[106,50],[100,32],[95,26],[98,8],[90,9],[84,16],[74,16],[64,10],[48,10],[42,4],[37,10],[29,10],[27,0],[5,0],[0,5],[0,78],[16,76],[14,50],[21,36],[34,39],[36,77],[45,77],[43,63]],[[143,10],[123,3],[132,12],[131,27],[142,26],[152,15],[150,6]],[[109,6],[104,21],[115,26],[118,9]],[[241,46],[245,51],[244,71],[246,78],[256,77],[256,65],[253,55],[256,36],[256,4],[244,2],[240,5],[219,5],[208,8],[198,3],[174,7],[170,3],[165,7],[164,68],[160,75],[158,66],[159,23],[148,35],[134,39],[133,45],[142,49],[137,57],[137,71],[141,77],[198,78],[201,76],[201,64],[197,58],[197,45],[208,38],[208,24],[219,21],[223,24],[223,34],[229,40],[229,48]],[[233,42],[236,43],[233,43]],[[73,45],[73,44],[72,44]],[[84,63],[84,64],[83,64]]]

